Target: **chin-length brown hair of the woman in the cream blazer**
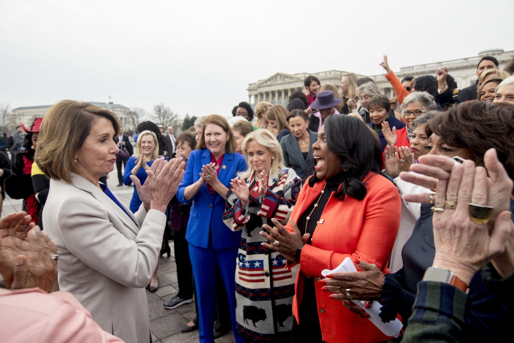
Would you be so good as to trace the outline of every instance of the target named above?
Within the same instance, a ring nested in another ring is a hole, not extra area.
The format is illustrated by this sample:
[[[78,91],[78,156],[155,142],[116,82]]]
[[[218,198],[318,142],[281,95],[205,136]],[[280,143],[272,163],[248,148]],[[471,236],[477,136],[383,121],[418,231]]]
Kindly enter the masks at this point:
[[[98,117],[104,117],[113,124],[115,135],[120,131],[114,113],[88,102],[62,100],[48,110],[41,123],[34,156],[35,163],[47,177],[71,182],[70,173],[78,171],[74,163],[77,151]]]

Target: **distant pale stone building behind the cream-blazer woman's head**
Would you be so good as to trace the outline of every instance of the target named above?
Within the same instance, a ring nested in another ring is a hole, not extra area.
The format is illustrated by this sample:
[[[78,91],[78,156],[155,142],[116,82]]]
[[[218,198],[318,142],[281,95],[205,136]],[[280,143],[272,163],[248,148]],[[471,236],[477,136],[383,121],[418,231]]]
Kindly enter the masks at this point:
[[[137,125],[137,117],[130,113],[130,109],[123,105],[114,104],[113,102],[89,102],[92,105],[108,110],[116,114],[121,126],[125,131],[135,130]],[[47,106],[30,106],[18,107],[8,114],[8,123],[11,125],[20,125],[23,123],[26,127],[30,127],[34,118],[42,118],[53,105]]]

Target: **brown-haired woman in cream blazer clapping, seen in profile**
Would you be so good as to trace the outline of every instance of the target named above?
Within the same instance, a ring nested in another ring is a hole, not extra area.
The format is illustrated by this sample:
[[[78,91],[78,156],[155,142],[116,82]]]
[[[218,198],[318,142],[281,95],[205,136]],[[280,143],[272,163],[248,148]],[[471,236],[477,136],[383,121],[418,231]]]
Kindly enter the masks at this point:
[[[132,214],[98,182],[114,168],[118,130],[114,114],[86,103],[61,101],[46,114],[36,151],[51,179],[45,231],[56,241],[60,289],[73,294],[104,331],[127,343],[149,342],[144,287],[157,265],[164,212],[185,164],[156,160],[148,183],[137,183],[143,203]]]

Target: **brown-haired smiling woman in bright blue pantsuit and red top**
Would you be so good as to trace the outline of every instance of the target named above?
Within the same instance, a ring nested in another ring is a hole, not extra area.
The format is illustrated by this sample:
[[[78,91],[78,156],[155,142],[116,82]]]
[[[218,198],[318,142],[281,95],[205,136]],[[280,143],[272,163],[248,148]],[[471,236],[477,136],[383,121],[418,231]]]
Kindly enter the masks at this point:
[[[231,179],[247,168],[230,126],[220,115],[205,119],[197,149],[191,151],[177,199],[191,202],[186,239],[198,302],[200,342],[213,342],[216,312],[216,268],[221,271],[237,342],[244,340],[235,327],[235,260],[241,232],[230,232],[222,220]]]

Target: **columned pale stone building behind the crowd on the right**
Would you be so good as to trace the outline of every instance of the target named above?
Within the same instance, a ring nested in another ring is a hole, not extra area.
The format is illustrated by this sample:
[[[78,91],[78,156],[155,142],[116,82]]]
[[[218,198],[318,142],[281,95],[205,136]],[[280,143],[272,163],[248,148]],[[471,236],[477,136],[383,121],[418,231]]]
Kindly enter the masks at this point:
[[[476,65],[479,63],[483,56],[494,56],[500,62],[502,68],[512,57],[514,57],[514,50],[505,52],[503,49],[490,49],[484,50],[478,56],[461,58],[458,60],[449,60],[434,62],[428,64],[412,65],[401,67],[399,72],[395,72],[396,76],[401,79],[407,75],[414,77],[423,75],[433,75],[439,68],[447,67],[449,74],[455,79],[458,89],[463,89],[476,81]],[[349,72],[331,70],[319,73],[298,73],[286,74],[276,73],[266,79],[259,80],[248,84],[248,102],[255,107],[261,101],[269,101],[273,105],[287,106],[289,95],[296,91],[302,90],[303,80],[309,76],[314,75],[320,79],[321,85],[332,84],[338,88],[341,77]],[[357,74],[357,76],[364,77],[365,75]],[[384,77],[384,74],[369,76],[375,81],[378,88],[381,89],[389,98],[395,96],[394,90],[389,81]]]

